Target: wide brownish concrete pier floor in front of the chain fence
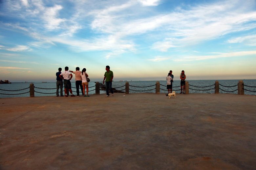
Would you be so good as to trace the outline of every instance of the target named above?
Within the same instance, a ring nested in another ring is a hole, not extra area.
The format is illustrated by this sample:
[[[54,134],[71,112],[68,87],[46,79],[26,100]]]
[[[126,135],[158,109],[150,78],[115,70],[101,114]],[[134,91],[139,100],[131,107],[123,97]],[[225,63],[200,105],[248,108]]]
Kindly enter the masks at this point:
[[[256,96],[0,98],[0,169],[253,170]]]

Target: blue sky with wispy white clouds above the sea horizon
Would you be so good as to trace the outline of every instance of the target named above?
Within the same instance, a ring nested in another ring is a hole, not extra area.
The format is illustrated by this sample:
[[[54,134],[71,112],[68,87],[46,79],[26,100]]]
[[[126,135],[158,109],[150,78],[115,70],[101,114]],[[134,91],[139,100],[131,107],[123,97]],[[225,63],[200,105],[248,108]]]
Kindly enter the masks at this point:
[[[0,79],[256,79],[256,0],[0,0]]]

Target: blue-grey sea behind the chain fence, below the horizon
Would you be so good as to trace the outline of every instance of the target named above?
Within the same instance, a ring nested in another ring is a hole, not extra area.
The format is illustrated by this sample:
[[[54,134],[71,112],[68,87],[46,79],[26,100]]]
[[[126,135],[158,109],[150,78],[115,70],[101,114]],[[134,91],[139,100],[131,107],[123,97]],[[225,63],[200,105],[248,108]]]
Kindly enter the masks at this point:
[[[216,80],[188,80],[189,93],[214,93],[214,84]],[[220,93],[237,94],[237,84],[239,80],[218,80],[220,84]],[[155,93],[157,81],[113,81],[112,87],[125,92],[125,83],[129,83],[129,93]],[[167,93],[166,80],[160,80],[160,93]],[[256,79],[244,79],[245,94],[256,95]],[[102,82],[99,82],[102,83]],[[37,96],[55,96],[56,82],[33,82],[35,87],[35,97]],[[11,83],[0,84],[0,98],[7,97],[29,97],[30,83]],[[71,82],[72,91],[76,95],[75,82]],[[234,86],[234,87],[230,87]],[[251,87],[248,87],[251,86]],[[64,87],[63,87],[64,90]],[[180,93],[180,80],[174,80],[173,91]],[[24,93],[24,94],[22,94]],[[48,94],[45,94],[48,93]],[[89,94],[95,93],[95,82],[89,82]],[[100,90],[100,94],[106,93]],[[64,92],[63,92],[64,94]],[[81,95],[81,93],[80,93]]]

